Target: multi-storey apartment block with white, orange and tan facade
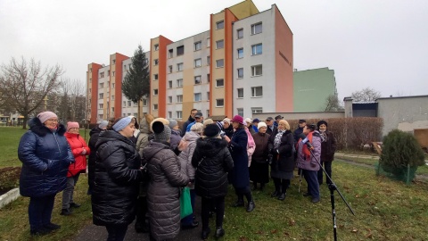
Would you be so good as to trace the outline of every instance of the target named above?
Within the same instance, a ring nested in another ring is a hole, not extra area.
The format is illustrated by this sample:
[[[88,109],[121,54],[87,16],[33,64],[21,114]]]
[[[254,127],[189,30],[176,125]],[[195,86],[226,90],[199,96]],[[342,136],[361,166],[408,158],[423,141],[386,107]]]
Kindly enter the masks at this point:
[[[193,108],[228,117],[292,112],[292,31],[276,4],[259,12],[246,0],[210,14],[207,23],[207,31],[181,40],[150,39],[151,94],[143,112],[176,120]],[[136,104],[121,94],[130,63],[116,53],[108,66],[88,64],[91,123],[136,115]]]

